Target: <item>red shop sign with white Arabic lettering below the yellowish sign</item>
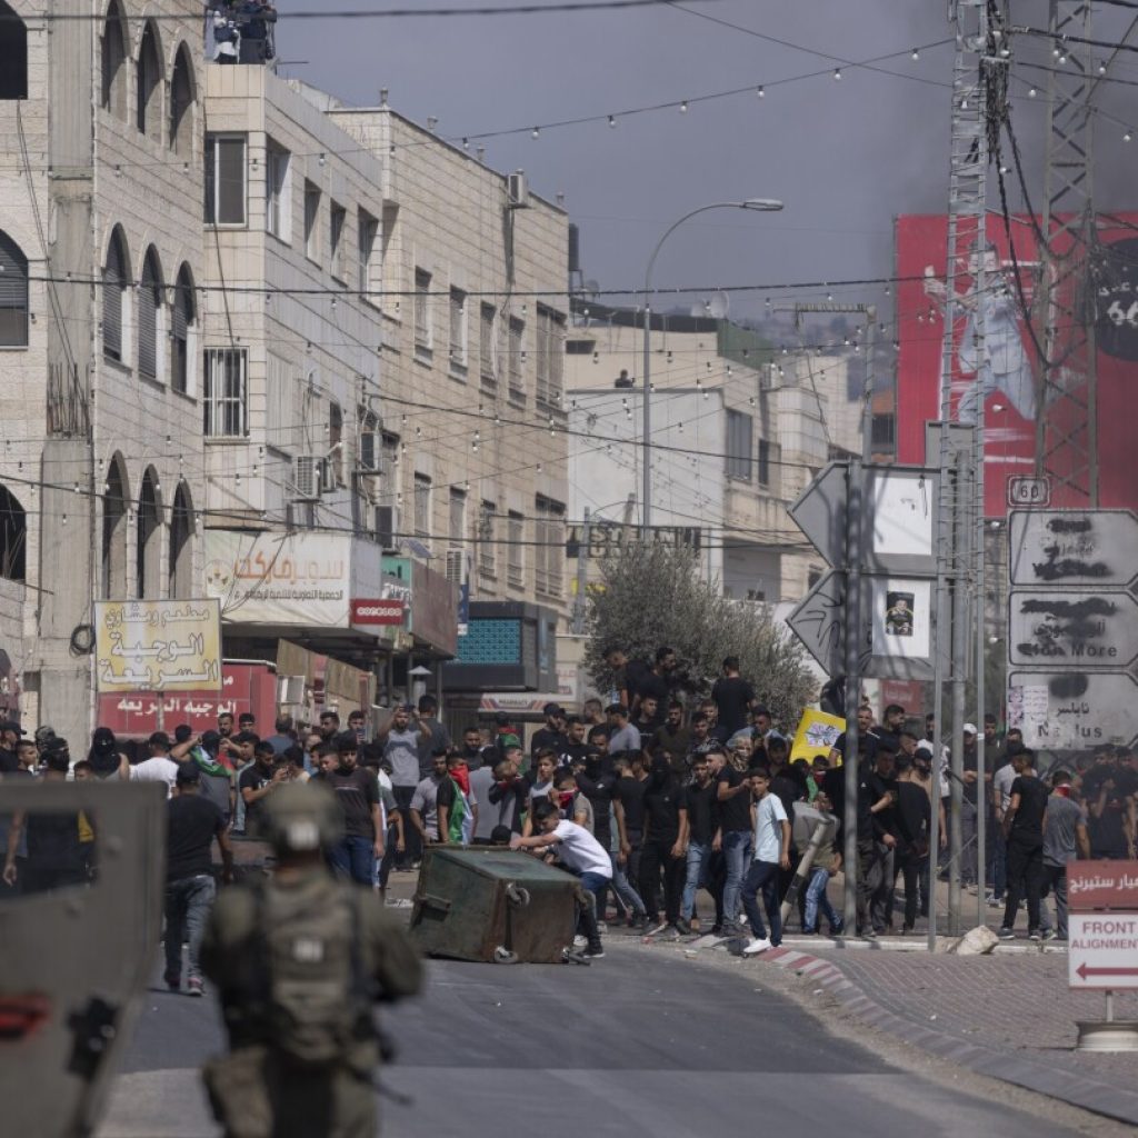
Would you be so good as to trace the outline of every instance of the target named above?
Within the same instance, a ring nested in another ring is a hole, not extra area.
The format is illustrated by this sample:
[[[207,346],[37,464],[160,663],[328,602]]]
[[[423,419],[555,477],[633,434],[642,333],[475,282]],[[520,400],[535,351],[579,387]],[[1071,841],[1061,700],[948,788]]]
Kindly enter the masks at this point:
[[[174,692],[105,692],[99,696],[99,726],[116,735],[145,737],[158,726],[162,706],[162,731],[173,737],[174,728],[188,723],[195,732],[216,731],[217,716],[230,712],[234,718],[242,711],[257,717],[262,735],[272,733],[277,716],[277,674],[267,663],[223,663],[222,691]]]

